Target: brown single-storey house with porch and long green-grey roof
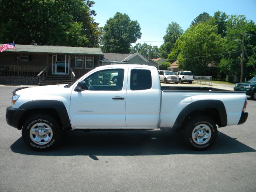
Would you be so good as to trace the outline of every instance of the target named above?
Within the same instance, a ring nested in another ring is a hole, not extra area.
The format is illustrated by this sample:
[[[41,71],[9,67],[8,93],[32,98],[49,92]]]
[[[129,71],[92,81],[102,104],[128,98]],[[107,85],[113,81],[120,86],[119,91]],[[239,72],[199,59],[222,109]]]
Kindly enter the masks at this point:
[[[0,84],[70,83],[100,66],[103,56],[100,48],[15,46],[0,53]]]

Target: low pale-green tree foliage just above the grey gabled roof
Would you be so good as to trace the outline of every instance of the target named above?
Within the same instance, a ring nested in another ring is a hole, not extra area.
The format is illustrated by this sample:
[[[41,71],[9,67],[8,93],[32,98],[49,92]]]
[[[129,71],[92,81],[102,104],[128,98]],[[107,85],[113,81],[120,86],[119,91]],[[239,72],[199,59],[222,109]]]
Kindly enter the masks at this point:
[[[135,46],[132,47],[132,52],[140,53],[147,58],[159,58],[160,52],[157,46],[150,46],[146,43],[140,44],[137,43]]]

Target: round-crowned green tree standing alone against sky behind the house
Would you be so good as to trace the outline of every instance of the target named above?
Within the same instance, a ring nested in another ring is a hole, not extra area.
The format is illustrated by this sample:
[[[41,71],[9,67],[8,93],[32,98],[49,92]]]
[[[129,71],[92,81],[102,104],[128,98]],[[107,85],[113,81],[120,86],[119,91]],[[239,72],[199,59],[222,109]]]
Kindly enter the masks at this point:
[[[102,50],[109,53],[130,53],[132,43],[141,38],[140,25],[127,14],[117,12],[103,27]]]

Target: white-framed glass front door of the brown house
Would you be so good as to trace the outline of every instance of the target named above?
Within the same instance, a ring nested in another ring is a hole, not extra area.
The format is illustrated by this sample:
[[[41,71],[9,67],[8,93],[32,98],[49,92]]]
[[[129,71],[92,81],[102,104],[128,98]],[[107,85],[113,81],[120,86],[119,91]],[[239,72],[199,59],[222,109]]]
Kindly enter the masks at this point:
[[[69,55],[52,55],[52,74],[69,74]]]

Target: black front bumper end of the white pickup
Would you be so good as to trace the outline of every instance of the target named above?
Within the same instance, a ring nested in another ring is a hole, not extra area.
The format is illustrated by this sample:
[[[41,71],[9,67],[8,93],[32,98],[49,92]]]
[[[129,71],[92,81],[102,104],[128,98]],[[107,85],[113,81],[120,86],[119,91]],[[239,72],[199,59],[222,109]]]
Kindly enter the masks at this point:
[[[6,122],[8,125],[17,128],[18,130],[21,130],[21,126],[19,127],[18,123],[20,120],[20,117],[22,116],[22,114],[24,114],[24,112],[26,112],[26,110],[24,109],[15,109],[12,108],[12,106],[9,106],[8,108],[6,108]]]

